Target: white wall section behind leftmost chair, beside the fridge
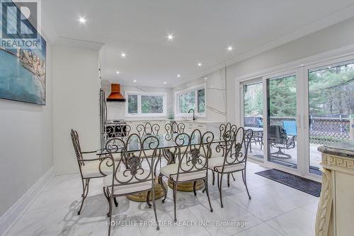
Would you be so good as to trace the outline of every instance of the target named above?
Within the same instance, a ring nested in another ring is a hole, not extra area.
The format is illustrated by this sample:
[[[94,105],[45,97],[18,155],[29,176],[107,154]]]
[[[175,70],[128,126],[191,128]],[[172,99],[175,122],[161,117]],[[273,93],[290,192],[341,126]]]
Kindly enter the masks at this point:
[[[99,143],[98,50],[55,45],[53,83],[53,157],[56,174],[79,172],[70,129],[77,130],[81,149]]]

